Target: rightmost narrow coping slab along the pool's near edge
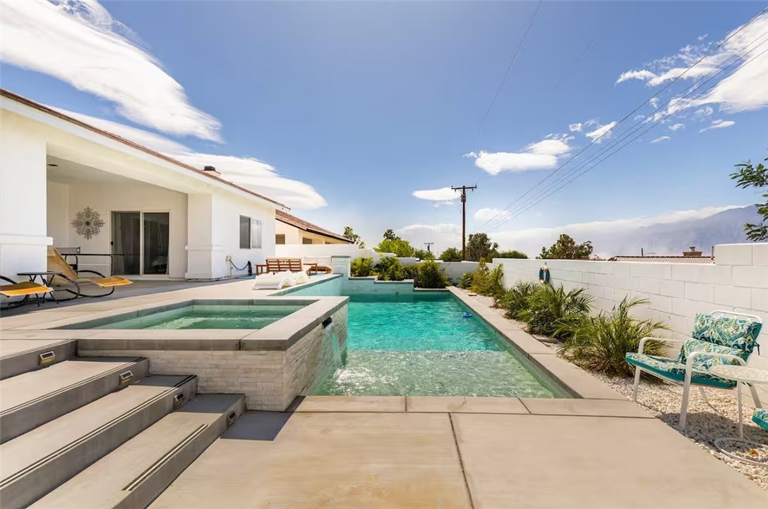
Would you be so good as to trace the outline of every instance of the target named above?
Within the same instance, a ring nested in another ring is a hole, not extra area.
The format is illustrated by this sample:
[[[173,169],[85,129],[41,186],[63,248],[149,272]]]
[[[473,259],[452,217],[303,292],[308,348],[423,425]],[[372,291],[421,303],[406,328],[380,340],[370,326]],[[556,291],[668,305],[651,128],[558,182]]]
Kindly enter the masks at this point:
[[[521,398],[520,401],[528,412],[535,415],[593,415],[654,419],[654,415],[650,412],[628,400]]]

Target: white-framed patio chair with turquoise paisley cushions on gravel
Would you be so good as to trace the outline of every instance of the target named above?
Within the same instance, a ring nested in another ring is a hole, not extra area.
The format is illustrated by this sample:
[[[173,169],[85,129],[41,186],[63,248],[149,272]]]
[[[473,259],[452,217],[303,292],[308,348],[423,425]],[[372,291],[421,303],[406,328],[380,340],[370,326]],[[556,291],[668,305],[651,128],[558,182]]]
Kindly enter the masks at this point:
[[[696,315],[694,331],[687,340],[644,337],[640,340],[637,353],[627,353],[626,356],[627,363],[635,366],[633,401],[637,402],[637,386],[640,385],[640,375],[643,372],[682,385],[680,428],[685,429],[690,386],[699,387],[704,401],[707,401],[704,387],[717,389],[736,387],[736,382],[714,376],[709,373],[709,369],[717,364],[746,366],[746,360],[757,343],[761,327],[763,327],[763,320],[755,315],[715,310],[709,314]],[[650,340],[681,344],[677,359],[643,353],[645,343]],[[756,389],[750,386],[750,391],[755,405],[759,407],[760,398],[757,396]]]

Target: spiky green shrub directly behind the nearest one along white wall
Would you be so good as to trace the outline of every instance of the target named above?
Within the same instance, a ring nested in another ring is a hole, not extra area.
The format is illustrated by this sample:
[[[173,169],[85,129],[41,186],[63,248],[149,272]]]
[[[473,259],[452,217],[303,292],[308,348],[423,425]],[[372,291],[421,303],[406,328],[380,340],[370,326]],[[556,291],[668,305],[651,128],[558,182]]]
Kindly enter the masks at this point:
[[[557,339],[567,339],[568,325],[588,314],[592,297],[585,288],[564,291],[542,285],[528,298],[528,308],[518,312],[518,318],[528,325],[528,332]]]

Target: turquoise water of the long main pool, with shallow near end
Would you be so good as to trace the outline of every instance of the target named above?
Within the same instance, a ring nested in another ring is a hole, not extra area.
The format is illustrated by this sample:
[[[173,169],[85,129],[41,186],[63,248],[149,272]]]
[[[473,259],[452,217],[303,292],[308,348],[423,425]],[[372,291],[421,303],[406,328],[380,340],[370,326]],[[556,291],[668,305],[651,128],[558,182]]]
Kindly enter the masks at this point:
[[[451,294],[349,299],[346,364],[315,395],[566,396]]]

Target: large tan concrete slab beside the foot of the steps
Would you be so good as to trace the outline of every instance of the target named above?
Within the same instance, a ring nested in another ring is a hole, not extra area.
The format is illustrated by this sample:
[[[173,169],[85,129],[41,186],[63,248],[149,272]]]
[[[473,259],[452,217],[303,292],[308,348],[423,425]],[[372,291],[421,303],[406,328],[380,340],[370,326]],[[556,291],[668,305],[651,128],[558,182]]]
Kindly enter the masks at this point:
[[[294,413],[240,419],[150,507],[471,506],[448,415]]]

